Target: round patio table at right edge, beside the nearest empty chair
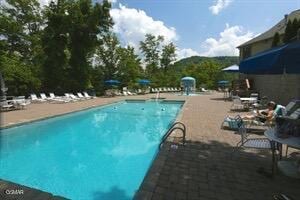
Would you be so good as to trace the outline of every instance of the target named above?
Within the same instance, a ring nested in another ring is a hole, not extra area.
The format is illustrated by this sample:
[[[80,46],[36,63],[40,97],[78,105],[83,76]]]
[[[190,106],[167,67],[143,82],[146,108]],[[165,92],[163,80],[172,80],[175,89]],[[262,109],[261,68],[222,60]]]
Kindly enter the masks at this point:
[[[295,149],[300,149],[300,137],[287,137],[287,138],[279,138],[276,134],[275,128],[270,128],[264,132],[264,135],[271,141],[271,147],[272,147],[272,156],[275,157],[275,148],[276,144],[279,145],[279,153],[280,153],[280,159],[282,157],[282,145],[288,145],[289,147],[293,147]],[[275,159],[273,159],[273,162],[275,162]],[[273,163],[274,165],[275,163]],[[292,161],[278,161],[277,162],[278,168],[287,176],[293,177],[293,178],[300,178],[300,166],[297,166],[296,162]]]

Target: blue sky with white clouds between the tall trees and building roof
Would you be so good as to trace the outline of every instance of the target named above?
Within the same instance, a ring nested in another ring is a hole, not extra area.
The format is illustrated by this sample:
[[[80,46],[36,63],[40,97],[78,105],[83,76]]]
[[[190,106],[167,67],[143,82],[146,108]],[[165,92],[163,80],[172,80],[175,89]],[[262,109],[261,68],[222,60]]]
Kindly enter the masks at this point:
[[[300,0],[109,1],[113,31],[123,45],[138,48],[145,34],[162,35],[166,43],[175,43],[179,59],[237,56],[237,46],[300,9]]]

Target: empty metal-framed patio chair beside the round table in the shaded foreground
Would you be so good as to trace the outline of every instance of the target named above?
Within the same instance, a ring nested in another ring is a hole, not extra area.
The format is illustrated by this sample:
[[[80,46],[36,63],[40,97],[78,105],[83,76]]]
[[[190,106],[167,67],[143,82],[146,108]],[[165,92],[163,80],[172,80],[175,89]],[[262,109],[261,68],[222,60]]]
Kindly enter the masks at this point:
[[[234,147],[232,155],[240,148],[249,148],[249,149],[262,149],[262,150],[275,150],[275,147],[272,148],[272,143],[268,138],[253,138],[247,133],[247,128],[244,123],[241,123],[238,128],[237,133],[241,136],[241,140]],[[274,165],[275,165],[275,153],[272,154],[272,175],[274,174]]]

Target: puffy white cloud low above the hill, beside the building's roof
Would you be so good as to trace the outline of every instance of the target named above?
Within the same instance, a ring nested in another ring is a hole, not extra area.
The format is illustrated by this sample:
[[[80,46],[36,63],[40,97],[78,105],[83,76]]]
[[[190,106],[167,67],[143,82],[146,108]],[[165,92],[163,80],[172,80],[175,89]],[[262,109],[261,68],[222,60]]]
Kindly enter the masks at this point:
[[[254,38],[254,33],[244,31],[241,26],[229,26],[220,33],[220,37],[208,38],[202,43],[204,51],[202,56],[237,56],[239,54],[237,46]]]

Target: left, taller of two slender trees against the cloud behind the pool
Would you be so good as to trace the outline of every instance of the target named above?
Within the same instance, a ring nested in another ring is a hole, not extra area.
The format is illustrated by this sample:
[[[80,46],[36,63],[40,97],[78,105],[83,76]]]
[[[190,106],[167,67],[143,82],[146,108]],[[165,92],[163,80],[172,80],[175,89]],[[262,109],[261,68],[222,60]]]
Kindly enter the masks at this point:
[[[140,42],[140,50],[144,54],[146,73],[151,78],[160,66],[160,47],[164,38],[162,36],[145,35],[145,40]]]

